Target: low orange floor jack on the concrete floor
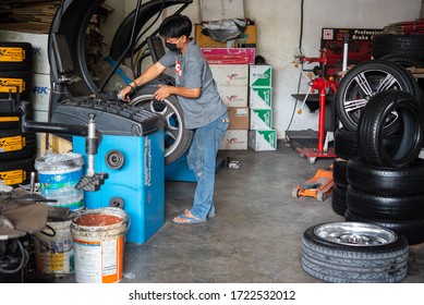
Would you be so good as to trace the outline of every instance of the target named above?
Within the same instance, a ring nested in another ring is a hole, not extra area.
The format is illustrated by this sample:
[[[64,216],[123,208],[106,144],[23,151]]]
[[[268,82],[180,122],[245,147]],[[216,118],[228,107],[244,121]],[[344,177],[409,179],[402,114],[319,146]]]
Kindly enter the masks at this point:
[[[332,192],[332,166],[329,169],[319,169],[313,178],[294,187],[292,197],[313,197],[318,202],[325,202]]]

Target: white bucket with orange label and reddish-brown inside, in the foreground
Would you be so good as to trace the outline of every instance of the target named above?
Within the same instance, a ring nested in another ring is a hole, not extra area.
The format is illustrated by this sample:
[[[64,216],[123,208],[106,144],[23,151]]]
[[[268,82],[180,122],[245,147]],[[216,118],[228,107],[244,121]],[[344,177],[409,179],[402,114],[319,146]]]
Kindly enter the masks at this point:
[[[87,210],[72,220],[76,282],[122,280],[126,221],[128,215],[120,208]]]

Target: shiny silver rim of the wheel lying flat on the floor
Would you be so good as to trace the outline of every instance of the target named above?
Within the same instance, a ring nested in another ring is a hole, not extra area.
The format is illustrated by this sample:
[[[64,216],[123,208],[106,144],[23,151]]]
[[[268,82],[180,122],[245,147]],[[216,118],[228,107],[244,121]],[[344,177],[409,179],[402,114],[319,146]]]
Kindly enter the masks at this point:
[[[380,246],[397,240],[393,231],[362,222],[324,223],[314,233],[325,241],[349,246]]]

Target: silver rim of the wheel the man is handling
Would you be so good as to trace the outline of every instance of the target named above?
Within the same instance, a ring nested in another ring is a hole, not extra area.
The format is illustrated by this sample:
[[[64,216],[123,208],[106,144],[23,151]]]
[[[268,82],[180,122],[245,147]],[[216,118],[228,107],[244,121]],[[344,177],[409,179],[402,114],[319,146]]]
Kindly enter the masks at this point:
[[[131,100],[131,105],[143,107],[154,113],[158,113],[163,118],[165,122],[165,158],[171,155],[180,145],[183,136],[182,117],[177,108],[168,99],[160,103],[165,105],[163,110],[158,111],[154,108],[155,99],[153,95],[141,95]]]

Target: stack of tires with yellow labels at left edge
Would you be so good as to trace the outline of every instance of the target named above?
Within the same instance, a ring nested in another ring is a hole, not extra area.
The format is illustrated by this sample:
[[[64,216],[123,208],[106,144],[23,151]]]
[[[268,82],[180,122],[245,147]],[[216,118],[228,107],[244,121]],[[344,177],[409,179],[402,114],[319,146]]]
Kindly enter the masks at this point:
[[[32,62],[31,44],[0,41],[0,182],[4,185],[25,184],[34,171],[36,136],[21,132],[17,105],[29,99]]]

